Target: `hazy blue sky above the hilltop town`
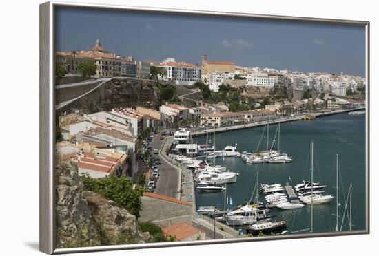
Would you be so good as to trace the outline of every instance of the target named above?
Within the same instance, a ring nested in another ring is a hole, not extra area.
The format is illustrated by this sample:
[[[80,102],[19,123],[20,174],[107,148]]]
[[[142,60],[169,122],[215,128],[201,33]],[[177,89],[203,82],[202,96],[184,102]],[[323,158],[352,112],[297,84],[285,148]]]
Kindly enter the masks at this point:
[[[365,28],[230,17],[58,8],[56,50],[106,50],[137,60],[289,68],[365,76]]]

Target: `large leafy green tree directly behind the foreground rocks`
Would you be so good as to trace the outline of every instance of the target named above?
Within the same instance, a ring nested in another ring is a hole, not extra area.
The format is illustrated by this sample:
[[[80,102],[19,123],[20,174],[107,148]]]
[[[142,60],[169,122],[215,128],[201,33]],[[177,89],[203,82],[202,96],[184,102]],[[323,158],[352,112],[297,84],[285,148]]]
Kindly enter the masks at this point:
[[[136,218],[139,218],[142,209],[141,197],[144,192],[141,186],[135,186],[125,176],[117,178],[114,175],[108,175],[105,178],[91,178],[85,173],[81,175],[81,181],[84,189],[94,191],[113,200],[117,206],[126,209]]]

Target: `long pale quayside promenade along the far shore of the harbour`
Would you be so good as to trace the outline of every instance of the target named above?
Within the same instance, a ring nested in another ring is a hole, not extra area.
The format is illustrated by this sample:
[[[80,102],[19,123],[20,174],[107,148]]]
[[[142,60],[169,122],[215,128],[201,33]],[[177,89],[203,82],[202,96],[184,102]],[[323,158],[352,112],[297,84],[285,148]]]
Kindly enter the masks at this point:
[[[330,116],[330,115],[336,115],[336,114],[341,114],[341,113],[347,113],[351,111],[358,111],[358,110],[365,110],[366,107],[358,107],[355,109],[342,109],[342,110],[334,110],[334,111],[329,111],[329,112],[309,112],[309,113],[303,113],[299,114],[298,116],[288,116],[288,117],[281,117],[281,118],[276,118],[274,120],[269,120],[268,123],[269,125],[275,125],[278,124],[279,122],[294,122],[298,120],[303,120],[304,116],[315,116],[316,118],[322,117],[322,116]],[[193,137],[196,136],[203,136],[205,134],[213,133],[215,132],[216,134],[221,133],[221,132],[226,132],[226,131],[236,131],[239,129],[246,129],[246,128],[252,128],[252,127],[260,127],[267,125],[267,121],[262,121],[262,122],[252,122],[252,123],[247,123],[243,125],[233,125],[233,126],[226,126],[226,127],[217,127],[216,129],[210,127],[209,129],[203,129],[201,131],[191,131],[191,134]]]

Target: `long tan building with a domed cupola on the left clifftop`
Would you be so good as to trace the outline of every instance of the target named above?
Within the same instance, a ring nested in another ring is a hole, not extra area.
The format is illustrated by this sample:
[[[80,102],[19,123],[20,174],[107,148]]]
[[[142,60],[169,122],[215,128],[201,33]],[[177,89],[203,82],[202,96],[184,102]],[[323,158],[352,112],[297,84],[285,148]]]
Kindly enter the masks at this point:
[[[61,64],[66,74],[79,74],[77,67],[83,61],[94,61],[96,65],[96,77],[126,76],[136,78],[148,78],[150,64],[134,61],[132,57],[123,57],[111,53],[101,45],[99,39],[94,47],[88,51],[56,52],[55,62]]]

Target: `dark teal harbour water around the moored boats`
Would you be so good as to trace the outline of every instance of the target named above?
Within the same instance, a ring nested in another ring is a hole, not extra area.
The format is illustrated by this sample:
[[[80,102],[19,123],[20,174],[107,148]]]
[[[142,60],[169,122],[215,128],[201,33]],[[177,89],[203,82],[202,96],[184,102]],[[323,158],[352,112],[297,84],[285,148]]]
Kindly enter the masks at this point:
[[[276,125],[269,126],[269,147],[276,131]],[[263,127],[241,129],[216,134],[216,150],[227,145],[238,144],[237,150],[253,152],[263,134]],[[267,130],[266,130],[267,131]],[[263,136],[263,147],[267,148],[267,132]],[[213,139],[209,133],[208,140]],[[193,138],[194,142],[204,143],[206,136]],[[276,138],[277,142],[278,138]],[[329,204],[314,205],[314,232],[329,232],[336,229],[336,154],[339,154],[338,166],[340,178],[339,189],[339,225],[345,210],[347,193],[352,184],[352,229],[364,230],[366,223],[366,147],[365,147],[365,115],[337,114],[316,118],[313,121],[300,120],[280,125],[280,150],[294,158],[287,164],[247,164],[241,158],[216,158],[216,164],[225,165],[227,169],[239,173],[235,183],[227,184],[227,198],[232,198],[234,207],[247,202],[258,182],[287,182],[292,186],[311,178],[311,140],[314,141],[314,181],[327,185],[325,195],[333,195]],[[276,147],[276,142],[275,146]],[[212,160],[209,160],[212,162]],[[255,195],[254,195],[255,197]],[[259,200],[264,202],[263,195]],[[203,193],[196,191],[196,208],[199,206],[216,206],[224,209],[225,191]],[[349,209],[349,204],[347,204]],[[287,220],[287,230],[296,233],[311,224],[311,206],[302,209],[273,209],[274,220]],[[342,224],[342,231],[348,231],[347,216]]]

